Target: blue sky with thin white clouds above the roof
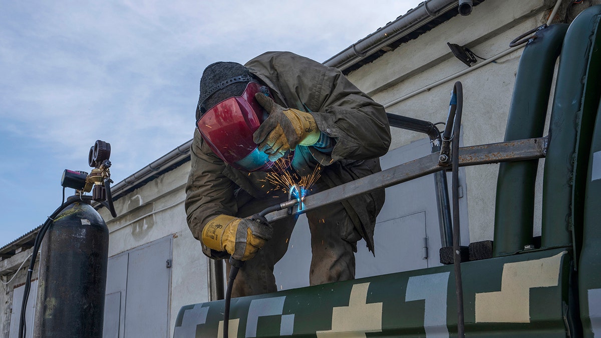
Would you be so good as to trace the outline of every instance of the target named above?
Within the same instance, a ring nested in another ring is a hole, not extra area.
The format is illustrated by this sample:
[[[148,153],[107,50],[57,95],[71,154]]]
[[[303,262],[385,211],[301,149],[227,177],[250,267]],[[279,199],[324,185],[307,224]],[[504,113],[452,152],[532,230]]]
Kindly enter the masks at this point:
[[[208,64],[323,62],[419,2],[0,0],[0,247],[58,207],[96,140],[115,183],[190,140]]]

